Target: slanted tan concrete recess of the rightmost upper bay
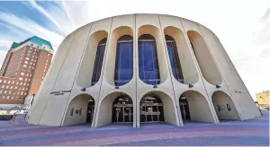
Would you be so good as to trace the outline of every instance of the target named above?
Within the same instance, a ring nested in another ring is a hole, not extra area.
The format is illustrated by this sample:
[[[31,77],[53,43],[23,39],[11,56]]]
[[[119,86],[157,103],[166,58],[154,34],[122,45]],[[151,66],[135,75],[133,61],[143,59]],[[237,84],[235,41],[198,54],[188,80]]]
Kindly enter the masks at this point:
[[[203,78],[213,85],[220,85],[222,82],[220,72],[214,63],[209,48],[207,48],[204,40],[202,39],[202,35],[195,30],[188,30],[187,36],[190,40],[198,65],[202,71]]]

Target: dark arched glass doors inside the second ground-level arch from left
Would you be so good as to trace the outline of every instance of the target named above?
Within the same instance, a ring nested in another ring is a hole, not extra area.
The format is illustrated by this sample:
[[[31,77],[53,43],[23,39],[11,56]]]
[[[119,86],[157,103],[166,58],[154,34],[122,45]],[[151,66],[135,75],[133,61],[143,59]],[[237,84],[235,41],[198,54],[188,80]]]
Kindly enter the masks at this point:
[[[112,123],[132,123],[133,103],[128,95],[120,95],[112,103]]]

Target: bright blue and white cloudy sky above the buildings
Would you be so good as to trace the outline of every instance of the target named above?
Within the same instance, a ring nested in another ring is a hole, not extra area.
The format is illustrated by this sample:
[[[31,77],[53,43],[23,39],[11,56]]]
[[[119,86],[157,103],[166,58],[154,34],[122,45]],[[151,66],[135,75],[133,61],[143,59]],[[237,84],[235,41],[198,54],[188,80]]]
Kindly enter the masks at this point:
[[[270,90],[269,5],[268,0],[0,1],[0,65],[13,41],[35,35],[57,50],[86,23],[125,13],[165,13],[213,30],[255,98]]]

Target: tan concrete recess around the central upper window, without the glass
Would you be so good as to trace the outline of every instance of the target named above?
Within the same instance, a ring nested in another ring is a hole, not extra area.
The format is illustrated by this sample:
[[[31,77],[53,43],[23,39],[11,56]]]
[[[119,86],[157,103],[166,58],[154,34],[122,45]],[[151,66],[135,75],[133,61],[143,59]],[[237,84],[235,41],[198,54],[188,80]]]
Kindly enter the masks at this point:
[[[166,52],[164,50],[164,45],[162,42],[163,41],[162,34],[161,34],[160,30],[154,25],[142,25],[139,27],[137,38],[139,39],[139,37],[141,35],[144,35],[144,34],[149,34],[156,39],[157,60],[158,60],[158,68],[159,68],[159,74],[160,74],[160,83],[159,84],[161,84],[168,79],[168,75],[169,75],[168,70],[167,70],[167,66],[166,66],[166,63],[167,63],[166,62]],[[137,49],[139,50],[138,39],[137,39],[136,43],[137,43]],[[138,61],[139,61],[139,57],[138,57]],[[139,63],[137,63],[137,64],[139,65]],[[160,69],[163,69],[163,70],[160,70]]]

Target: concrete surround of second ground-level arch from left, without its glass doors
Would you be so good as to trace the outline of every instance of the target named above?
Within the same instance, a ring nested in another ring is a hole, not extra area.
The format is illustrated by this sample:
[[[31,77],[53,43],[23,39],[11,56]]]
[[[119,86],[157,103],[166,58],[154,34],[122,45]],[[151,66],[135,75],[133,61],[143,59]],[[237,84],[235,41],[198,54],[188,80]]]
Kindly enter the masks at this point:
[[[96,117],[95,117],[95,127],[103,126],[103,125],[109,125],[112,123],[112,102],[114,99],[119,97],[120,95],[127,95],[128,94],[121,92],[121,91],[114,91],[108,95],[106,95],[103,99],[100,99],[97,112],[96,112]],[[130,97],[130,96],[129,96]],[[131,98],[131,97],[130,97]],[[131,98],[132,99],[132,98]],[[132,104],[133,104],[133,112],[135,112],[135,103],[134,103],[134,98],[132,99]],[[135,119],[136,115],[133,115],[133,126],[135,125]]]

